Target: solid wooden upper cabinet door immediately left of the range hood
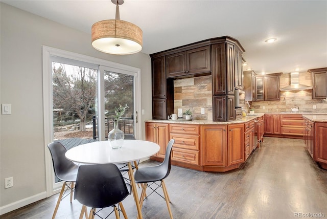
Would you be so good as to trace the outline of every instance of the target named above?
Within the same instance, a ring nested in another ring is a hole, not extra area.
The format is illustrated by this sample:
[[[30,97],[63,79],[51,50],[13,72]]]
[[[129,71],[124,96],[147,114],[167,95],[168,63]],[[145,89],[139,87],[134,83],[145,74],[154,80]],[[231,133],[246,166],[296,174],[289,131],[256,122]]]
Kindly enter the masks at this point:
[[[264,96],[265,100],[280,100],[279,75],[264,77]]]

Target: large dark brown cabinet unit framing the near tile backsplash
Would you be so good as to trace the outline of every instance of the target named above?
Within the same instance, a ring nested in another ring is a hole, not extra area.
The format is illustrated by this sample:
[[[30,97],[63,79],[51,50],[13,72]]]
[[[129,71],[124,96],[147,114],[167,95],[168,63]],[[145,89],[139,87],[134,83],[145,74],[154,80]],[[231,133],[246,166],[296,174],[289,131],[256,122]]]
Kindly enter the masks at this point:
[[[243,52],[237,39],[223,36],[151,54],[153,119],[174,113],[174,79],[212,75],[213,120],[235,120],[235,88],[243,90]]]

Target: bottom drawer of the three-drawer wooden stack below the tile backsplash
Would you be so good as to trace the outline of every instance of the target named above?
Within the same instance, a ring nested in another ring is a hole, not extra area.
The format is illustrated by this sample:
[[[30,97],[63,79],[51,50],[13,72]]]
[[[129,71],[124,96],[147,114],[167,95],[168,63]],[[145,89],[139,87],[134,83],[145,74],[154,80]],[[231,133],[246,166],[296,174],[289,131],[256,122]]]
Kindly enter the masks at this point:
[[[199,165],[199,151],[173,147],[172,160]]]

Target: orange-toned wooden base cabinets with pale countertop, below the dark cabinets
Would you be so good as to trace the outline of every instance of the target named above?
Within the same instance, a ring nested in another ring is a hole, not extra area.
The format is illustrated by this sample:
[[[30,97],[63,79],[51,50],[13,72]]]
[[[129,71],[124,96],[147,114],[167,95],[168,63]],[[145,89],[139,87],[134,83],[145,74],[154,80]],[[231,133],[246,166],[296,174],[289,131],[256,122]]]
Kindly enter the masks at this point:
[[[239,168],[263,141],[264,114],[229,122],[148,120],[146,140],[160,145],[151,159],[162,161],[168,141],[175,139],[172,164],[200,171]]]

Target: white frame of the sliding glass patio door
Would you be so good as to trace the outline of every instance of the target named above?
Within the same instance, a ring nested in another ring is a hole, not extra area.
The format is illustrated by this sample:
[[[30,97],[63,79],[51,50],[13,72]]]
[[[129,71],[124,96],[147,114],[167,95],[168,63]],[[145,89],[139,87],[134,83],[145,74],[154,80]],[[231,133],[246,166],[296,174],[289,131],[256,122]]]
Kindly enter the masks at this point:
[[[96,64],[99,66],[98,70],[98,116],[99,121],[103,118],[104,121],[104,98],[101,87],[104,91],[104,78],[101,77],[101,68],[110,68],[120,72],[129,72],[134,74],[134,104],[135,112],[141,112],[141,69],[131,67],[129,65],[120,64],[104,59],[94,58],[91,56],[81,55],[65,50],[60,50],[48,46],[42,46],[42,71],[43,71],[43,124],[44,124],[44,156],[45,156],[45,180],[46,180],[46,196],[49,197],[55,193],[58,193],[62,187],[62,182],[54,183],[54,171],[52,164],[52,157],[48,149],[48,144],[53,142],[53,99],[52,99],[52,57],[62,57],[67,59],[73,59],[90,64]],[[102,67],[101,67],[102,65]],[[101,67],[101,68],[100,68]],[[102,82],[101,82],[102,78]],[[103,96],[101,96],[103,95]],[[102,106],[103,105],[103,106]],[[135,113],[134,112],[134,113]],[[102,115],[102,118],[100,117]],[[141,114],[138,113],[138,121],[142,121]],[[100,123],[101,124],[101,123]],[[99,130],[99,140],[105,138],[104,136],[104,122]],[[142,138],[142,124],[141,122],[135,122],[135,137],[136,139]]]

